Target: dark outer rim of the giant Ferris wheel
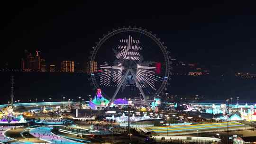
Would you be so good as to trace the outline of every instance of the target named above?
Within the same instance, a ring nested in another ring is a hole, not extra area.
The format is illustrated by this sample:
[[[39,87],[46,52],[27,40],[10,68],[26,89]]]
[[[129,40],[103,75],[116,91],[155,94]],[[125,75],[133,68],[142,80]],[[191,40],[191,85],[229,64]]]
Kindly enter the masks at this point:
[[[167,80],[169,78],[169,73],[170,73],[170,69],[171,69],[171,66],[170,66],[170,61],[169,59],[171,58],[170,56],[168,56],[169,54],[169,51],[167,51],[167,47],[164,46],[164,42],[161,42],[160,41],[160,38],[157,38],[156,35],[152,35],[151,34],[151,31],[148,32],[145,30],[143,30],[141,27],[140,28],[137,28],[137,27],[123,27],[123,28],[118,28],[117,30],[113,29],[112,32],[108,32],[107,35],[103,35],[103,38],[99,38],[99,42],[96,42],[96,46],[95,47],[92,47],[93,48],[93,51],[91,52],[91,61],[95,61],[95,57],[96,57],[96,54],[98,52],[98,50],[100,49],[101,45],[104,44],[110,37],[112,36],[115,36],[119,33],[124,33],[124,32],[137,32],[137,33],[140,33],[140,34],[144,34],[145,36],[148,36],[149,38],[151,38],[152,40],[154,40],[154,42],[159,46],[159,48],[161,49],[163,55],[164,55],[164,58],[165,58],[165,74],[164,74],[164,81],[162,82],[161,86],[158,88],[158,90],[155,91],[155,95],[159,95],[159,93],[162,92],[162,90],[164,90],[166,84],[167,84]],[[94,74],[91,74],[91,81],[92,81],[92,84],[94,85],[95,88],[100,88],[99,84],[97,83],[96,79],[95,79],[95,76]]]

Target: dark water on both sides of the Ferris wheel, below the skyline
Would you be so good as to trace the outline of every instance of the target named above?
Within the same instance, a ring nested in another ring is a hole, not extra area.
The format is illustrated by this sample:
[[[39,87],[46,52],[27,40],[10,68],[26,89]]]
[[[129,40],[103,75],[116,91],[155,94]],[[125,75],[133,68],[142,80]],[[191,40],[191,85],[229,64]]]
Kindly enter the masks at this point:
[[[0,72],[0,103],[10,100],[10,75],[10,72]],[[88,99],[88,95],[95,93],[91,90],[86,73],[17,72],[14,76],[15,99],[20,99],[21,102],[36,98],[38,101],[49,101],[49,98],[57,101],[63,97],[65,100],[78,100],[79,96],[82,96],[81,99]],[[237,96],[240,100],[256,101],[256,79],[232,76],[173,76],[167,91],[178,96],[203,95],[204,102],[209,99],[222,101]]]

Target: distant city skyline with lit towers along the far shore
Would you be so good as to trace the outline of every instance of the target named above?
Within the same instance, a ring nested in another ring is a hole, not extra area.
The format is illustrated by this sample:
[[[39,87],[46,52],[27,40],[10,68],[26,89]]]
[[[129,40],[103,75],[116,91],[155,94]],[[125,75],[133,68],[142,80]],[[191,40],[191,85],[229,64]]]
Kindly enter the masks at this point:
[[[21,57],[19,61],[16,61],[15,64],[12,64],[12,65],[9,65],[8,63],[4,63],[0,65],[0,69],[3,70],[2,72],[8,72],[12,70],[14,71],[22,70],[22,72],[50,72],[50,69],[52,66],[54,67],[54,70],[55,70],[54,72],[62,72],[61,63],[63,61],[74,62],[73,72],[91,73],[91,72],[96,72],[95,70],[99,69],[98,67],[99,65],[97,65],[97,62],[96,64],[93,64],[90,62],[90,60],[81,62],[81,61],[74,61],[70,59],[61,60],[56,58],[54,60],[55,63],[52,63],[46,60],[45,57],[49,57],[49,56],[45,56],[45,55],[51,55],[51,54],[45,54],[39,50],[32,50],[32,51],[24,50],[23,53],[20,54]],[[29,61],[31,62],[29,63]],[[219,68],[221,68],[221,70],[219,71],[219,74],[232,72],[236,76],[243,76],[243,75],[255,75],[256,73],[256,64],[242,64],[243,66],[241,68],[236,68],[236,67],[226,67],[226,65],[221,65],[221,64],[219,65],[210,64],[210,63],[201,64],[198,62],[182,61],[175,58],[172,58],[171,62],[174,68],[172,71],[174,75],[177,74],[177,75],[198,76],[198,75],[212,74],[212,72],[216,73],[216,69],[219,69]],[[91,70],[89,68],[90,66],[92,67]],[[8,71],[5,71],[5,69],[7,69]],[[255,76],[252,76],[252,77],[255,77]]]

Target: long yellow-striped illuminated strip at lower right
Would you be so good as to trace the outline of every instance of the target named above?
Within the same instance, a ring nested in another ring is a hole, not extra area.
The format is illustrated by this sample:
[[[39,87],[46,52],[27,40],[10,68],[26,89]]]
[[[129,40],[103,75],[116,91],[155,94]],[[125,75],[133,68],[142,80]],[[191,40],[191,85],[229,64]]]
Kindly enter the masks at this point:
[[[189,126],[158,126],[147,127],[145,131],[151,132],[152,135],[189,135],[197,133],[209,132],[224,132],[227,131],[228,123],[212,123],[212,124],[198,124]],[[239,122],[229,122],[229,130],[243,130],[249,129],[250,126]]]

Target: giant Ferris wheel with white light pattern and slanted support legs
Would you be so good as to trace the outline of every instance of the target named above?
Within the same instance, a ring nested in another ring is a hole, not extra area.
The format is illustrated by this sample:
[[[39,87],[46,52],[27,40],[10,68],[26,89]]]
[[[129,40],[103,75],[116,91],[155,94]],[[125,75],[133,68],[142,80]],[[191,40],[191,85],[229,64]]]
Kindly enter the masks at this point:
[[[90,61],[97,63],[91,72],[91,85],[101,89],[103,96],[115,98],[142,95],[148,98],[166,89],[171,63],[164,42],[151,31],[137,27],[123,27],[109,31],[92,47]]]

